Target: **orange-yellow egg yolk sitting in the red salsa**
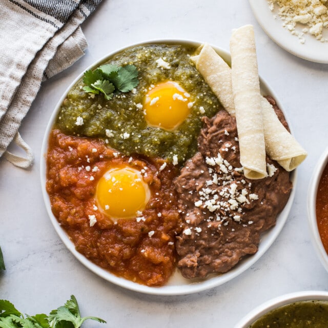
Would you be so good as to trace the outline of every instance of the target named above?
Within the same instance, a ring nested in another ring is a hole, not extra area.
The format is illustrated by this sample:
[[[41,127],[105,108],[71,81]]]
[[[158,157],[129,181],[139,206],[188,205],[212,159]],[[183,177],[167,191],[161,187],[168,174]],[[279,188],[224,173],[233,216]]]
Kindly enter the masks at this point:
[[[108,170],[99,179],[96,193],[98,205],[114,221],[136,217],[150,198],[140,171],[128,166]]]

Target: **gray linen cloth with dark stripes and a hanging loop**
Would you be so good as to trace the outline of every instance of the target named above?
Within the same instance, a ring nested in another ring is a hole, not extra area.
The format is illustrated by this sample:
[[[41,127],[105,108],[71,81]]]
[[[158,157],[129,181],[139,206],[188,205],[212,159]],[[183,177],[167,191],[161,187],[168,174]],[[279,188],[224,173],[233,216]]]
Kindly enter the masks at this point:
[[[101,0],[0,0],[0,157],[28,168],[33,153],[18,129],[43,80],[84,55],[80,24]],[[15,142],[26,155],[7,148]]]

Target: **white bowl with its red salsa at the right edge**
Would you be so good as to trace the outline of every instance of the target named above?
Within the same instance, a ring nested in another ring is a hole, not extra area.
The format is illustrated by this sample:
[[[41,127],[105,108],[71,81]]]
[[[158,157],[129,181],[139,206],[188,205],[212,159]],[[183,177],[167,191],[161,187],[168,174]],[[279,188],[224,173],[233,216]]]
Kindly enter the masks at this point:
[[[328,147],[319,158],[311,178],[308,218],[314,247],[328,271]]]

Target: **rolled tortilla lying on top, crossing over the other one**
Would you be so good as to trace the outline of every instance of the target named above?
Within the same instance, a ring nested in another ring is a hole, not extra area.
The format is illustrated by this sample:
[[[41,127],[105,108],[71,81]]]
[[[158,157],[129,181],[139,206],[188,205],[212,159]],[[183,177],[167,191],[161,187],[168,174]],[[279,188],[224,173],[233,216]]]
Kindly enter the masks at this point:
[[[267,176],[267,162],[255,38],[251,25],[233,31],[230,52],[240,163],[245,177],[261,179]]]

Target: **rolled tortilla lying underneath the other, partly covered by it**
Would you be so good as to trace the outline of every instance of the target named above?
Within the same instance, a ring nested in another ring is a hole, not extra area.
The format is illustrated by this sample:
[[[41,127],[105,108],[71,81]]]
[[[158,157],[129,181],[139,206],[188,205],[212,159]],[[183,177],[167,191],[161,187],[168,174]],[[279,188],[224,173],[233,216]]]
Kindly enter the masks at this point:
[[[199,47],[199,54],[192,56],[196,69],[206,80],[222,106],[234,115],[235,105],[231,85],[231,68],[208,44]],[[221,70],[216,73],[216,70]],[[279,121],[267,99],[261,97],[264,128],[265,152],[286,170],[292,171],[306,158],[306,151],[300,146]]]

